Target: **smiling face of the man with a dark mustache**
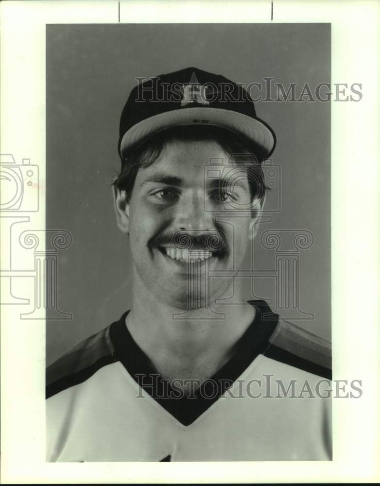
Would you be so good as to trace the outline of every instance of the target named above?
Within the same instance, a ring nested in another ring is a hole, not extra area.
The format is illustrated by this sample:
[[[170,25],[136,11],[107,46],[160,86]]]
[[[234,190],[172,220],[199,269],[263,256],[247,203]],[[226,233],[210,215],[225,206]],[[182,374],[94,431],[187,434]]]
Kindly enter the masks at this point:
[[[201,306],[207,305],[204,282],[211,271],[211,299],[231,295],[231,277],[249,246],[248,179],[231,165],[205,177],[211,159],[219,159],[215,167],[221,169],[229,157],[212,140],[170,141],[151,166],[139,169],[128,204],[122,205],[125,194],[119,194],[119,226],[129,233],[139,293],[187,308],[192,292]],[[233,217],[231,211],[227,215],[226,203],[235,208]],[[236,217],[239,207],[245,211]],[[182,249],[189,243],[190,248]],[[218,270],[224,276],[218,277]]]

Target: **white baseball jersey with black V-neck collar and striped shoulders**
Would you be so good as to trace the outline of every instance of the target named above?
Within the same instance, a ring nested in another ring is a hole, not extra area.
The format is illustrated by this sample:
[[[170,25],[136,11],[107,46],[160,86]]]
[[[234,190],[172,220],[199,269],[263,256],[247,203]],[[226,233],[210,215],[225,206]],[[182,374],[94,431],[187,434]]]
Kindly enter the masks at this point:
[[[47,461],[331,460],[330,345],[261,300],[233,356],[184,395],[123,313],[47,369]]]

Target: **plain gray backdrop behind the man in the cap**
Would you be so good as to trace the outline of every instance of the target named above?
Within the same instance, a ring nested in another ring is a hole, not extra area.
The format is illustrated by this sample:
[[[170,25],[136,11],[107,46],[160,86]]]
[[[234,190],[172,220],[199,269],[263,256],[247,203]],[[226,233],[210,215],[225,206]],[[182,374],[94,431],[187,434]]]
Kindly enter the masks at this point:
[[[188,66],[313,89],[330,81],[330,24],[47,25],[46,227],[73,237],[58,256],[58,306],[73,318],[47,321],[47,364],[130,307],[130,253],[111,192],[119,117],[135,77]],[[314,235],[300,254],[300,307],[315,317],[294,322],[330,339],[330,104],[261,102],[257,113],[276,133],[282,170],[281,212],[260,231]],[[273,251],[256,243],[255,267],[274,266]],[[273,299],[273,279],[257,279],[255,294]]]

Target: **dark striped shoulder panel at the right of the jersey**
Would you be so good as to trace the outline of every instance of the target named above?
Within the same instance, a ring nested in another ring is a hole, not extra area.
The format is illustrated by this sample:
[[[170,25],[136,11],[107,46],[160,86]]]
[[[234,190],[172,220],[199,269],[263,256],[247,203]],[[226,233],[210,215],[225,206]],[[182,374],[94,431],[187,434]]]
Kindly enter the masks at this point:
[[[331,344],[295,324],[279,320],[263,353],[281,363],[331,380]]]

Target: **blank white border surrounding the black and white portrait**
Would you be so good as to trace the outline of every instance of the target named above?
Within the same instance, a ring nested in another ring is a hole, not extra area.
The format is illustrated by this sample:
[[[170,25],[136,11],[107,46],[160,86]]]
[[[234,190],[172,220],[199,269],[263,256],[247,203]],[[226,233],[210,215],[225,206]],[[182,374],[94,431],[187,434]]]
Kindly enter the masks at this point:
[[[376,137],[380,128],[376,110],[380,5],[376,1],[285,0],[236,1],[233,11],[231,6],[232,2],[211,1],[2,2],[1,153],[12,154],[17,163],[29,159],[30,164],[38,165],[39,210],[21,218],[29,218],[31,230],[44,231],[47,23],[330,22],[331,83],[358,82],[363,87],[360,103],[331,104],[333,379],[363,382],[360,399],[333,399],[333,461],[318,462],[317,475],[313,472],[315,462],[271,462],[271,468],[267,462],[205,462],[191,463],[190,467],[189,463],[45,463],[45,321],[22,320],[17,305],[2,305],[2,483],[326,483],[380,479],[379,392],[377,386],[371,386],[380,378]],[[45,252],[44,240],[38,249]],[[10,258],[10,250],[2,247],[2,267]],[[17,247],[13,252],[17,254]],[[24,290],[29,295],[28,278]]]

